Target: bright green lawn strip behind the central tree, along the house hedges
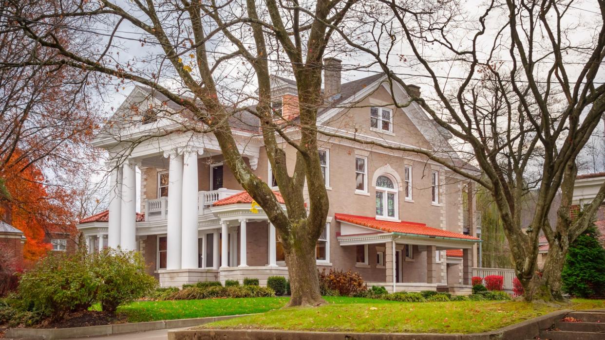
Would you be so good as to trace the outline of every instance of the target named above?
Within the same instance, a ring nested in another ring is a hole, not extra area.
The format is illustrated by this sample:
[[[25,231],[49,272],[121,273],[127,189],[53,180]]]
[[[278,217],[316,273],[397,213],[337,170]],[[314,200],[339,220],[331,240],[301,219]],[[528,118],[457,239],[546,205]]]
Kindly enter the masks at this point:
[[[326,297],[330,303],[369,303],[376,300]],[[263,313],[285,306],[289,298],[220,298],[205,300],[175,300],[175,301],[139,301],[118,308],[124,313],[128,322],[143,322],[186,318],[204,318],[206,316],[223,316],[237,314]],[[390,301],[377,301],[390,303]],[[94,306],[99,310],[99,306]]]

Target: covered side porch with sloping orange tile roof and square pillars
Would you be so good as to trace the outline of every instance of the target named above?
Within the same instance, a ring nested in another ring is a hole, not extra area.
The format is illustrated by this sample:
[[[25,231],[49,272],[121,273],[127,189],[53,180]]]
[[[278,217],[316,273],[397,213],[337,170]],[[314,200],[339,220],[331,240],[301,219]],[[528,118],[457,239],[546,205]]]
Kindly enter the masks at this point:
[[[376,256],[376,270],[381,269],[382,275],[367,277],[368,286],[384,286],[389,292],[471,293],[473,245],[479,242],[476,237],[431,228],[424,223],[347,214],[335,217],[341,226],[339,245],[356,248],[358,265],[359,259],[367,258],[368,254]]]

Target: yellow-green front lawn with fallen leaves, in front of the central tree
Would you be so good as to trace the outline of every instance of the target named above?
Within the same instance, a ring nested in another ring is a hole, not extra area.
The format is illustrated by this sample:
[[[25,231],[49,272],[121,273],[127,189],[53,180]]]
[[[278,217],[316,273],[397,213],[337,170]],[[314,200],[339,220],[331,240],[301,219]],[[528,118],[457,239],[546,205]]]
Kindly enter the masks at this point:
[[[342,299],[327,298],[334,303],[318,308],[273,310],[200,328],[476,333],[499,329],[557,309],[605,307],[602,300],[574,300],[570,306],[557,308],[518,301],[385,303],[380,300]]]

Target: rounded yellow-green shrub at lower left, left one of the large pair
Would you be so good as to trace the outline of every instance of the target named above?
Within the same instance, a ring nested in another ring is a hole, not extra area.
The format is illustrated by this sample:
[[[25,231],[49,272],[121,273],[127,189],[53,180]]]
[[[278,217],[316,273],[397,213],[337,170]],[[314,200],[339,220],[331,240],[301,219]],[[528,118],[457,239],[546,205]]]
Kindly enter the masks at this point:
[[[85,252],[51,254],[25,272],[19,282],[22,310],[37,310],[53,319],[87,310],[97,298],[102,282],[90,271]]]

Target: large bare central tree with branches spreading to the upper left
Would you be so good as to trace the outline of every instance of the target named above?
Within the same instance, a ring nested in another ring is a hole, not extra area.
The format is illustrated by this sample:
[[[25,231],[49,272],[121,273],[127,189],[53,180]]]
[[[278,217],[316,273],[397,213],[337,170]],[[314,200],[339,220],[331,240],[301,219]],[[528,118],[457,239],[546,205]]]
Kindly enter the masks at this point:
[[[3,15],[13,23],[11,29],[25,34],[28,43],[54,57],[4,66],[70,66],[105,74],[117,89],[126,82],[136,82],[183,107],[178,113],[187,119],[178,120],[180,131],[213,133],[226,165],[275,225],[289,268],[290,306],[324,303],[319,293],[315,245],[325,226],[329,202],[318,155],[316,117],[325,100],[321,74],[322,59],[335,31],[330,25],[338,26],[355,0],[304,4],[275,0],[134,0],[128,4],[56,0],[51,3],[53,10],[44,10],[36,1],[8,3]],[[91,36],[97,45],[87,48],[90,40],[82,37],[67,44],[55,36],[55,25]],[[133,40],[148,48],[146,56],[120,56],[125,45],[132,47]],[[240,63],[243,66],[237,66]],[[296,140],[284,133],[290,123],[280,120],[272,110],[272,70],[288,72],[296,79],[301,132]],[[230,76],[230,72],[237,75]],[[257,91],[245,91],[253,83]],[[260,119],[259,133],[287,213],[238,150],[230,118],[243,110]],[[293,168],[287,167],[283,143],[296,150]],[[305,190],[309,193],[308,207]]]

